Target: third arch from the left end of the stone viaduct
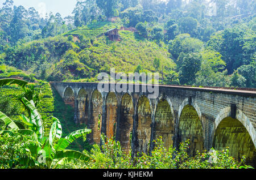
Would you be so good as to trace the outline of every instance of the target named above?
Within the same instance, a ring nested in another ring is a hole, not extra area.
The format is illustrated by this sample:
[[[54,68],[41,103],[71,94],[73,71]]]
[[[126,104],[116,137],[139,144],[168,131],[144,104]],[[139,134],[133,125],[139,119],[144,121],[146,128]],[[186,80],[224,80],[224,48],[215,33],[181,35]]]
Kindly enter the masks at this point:
[[[91,101],[92,115],[89,119],[89,128],[92,129],[92,132],[89,134],[89,142],[100,144],[103,98],[97,89],[93,91]]]

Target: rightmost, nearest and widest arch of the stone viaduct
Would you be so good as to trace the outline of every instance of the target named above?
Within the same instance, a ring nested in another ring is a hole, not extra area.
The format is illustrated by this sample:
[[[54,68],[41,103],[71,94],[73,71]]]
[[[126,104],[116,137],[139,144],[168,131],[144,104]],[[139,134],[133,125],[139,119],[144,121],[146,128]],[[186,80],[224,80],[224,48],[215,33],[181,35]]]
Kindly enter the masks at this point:
[[[230,156],[241,159],[246,156],[246,162],[256,165],[255,129],[249,118],[237,109],[236,117],[231,117],[231,108],[221,110],[214,121],[213,148],[222,150],[229,147]]]

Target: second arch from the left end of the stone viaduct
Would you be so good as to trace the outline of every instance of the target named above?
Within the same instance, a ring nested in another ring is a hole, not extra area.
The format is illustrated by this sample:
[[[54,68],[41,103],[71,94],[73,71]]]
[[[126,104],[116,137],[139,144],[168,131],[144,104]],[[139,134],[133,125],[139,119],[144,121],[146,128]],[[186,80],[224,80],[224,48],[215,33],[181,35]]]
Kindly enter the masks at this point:
[[[79,122],[86,124],[88,122],[89,96],[84,88],[81,88],[77,93],[77,106]]]

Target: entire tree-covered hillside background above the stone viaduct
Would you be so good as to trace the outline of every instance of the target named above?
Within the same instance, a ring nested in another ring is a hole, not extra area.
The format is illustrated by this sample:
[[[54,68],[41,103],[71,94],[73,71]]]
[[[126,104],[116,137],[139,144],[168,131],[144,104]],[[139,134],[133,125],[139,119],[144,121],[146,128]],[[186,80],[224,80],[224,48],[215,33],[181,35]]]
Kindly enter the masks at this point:
[[[255,88],[255,1],[77,1],[72,16],[0,10],[1,77],[97,81],[110,72],[160,72],[160,83]],[[121,41],[104,36],[112,28]],[[15,69],[16,68],[16,69]],[[22,71],[19,71],[22,70]]]

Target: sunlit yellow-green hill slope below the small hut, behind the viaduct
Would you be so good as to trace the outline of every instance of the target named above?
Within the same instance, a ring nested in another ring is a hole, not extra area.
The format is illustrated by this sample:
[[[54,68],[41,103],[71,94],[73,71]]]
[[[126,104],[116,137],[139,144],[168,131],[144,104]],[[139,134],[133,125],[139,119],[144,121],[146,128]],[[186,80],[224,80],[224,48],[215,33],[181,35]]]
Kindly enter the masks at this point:
[[[94,81],[98,73],[110,72],[110,67],[128,73],[141,65],[141,72],[155,72],[155,58],[165,67],[164,75],[175,68],[166,44],[158,45],[130,31],[119,31],[122,40],[110,41],[104,32],[115,27],[118,25],[103,23],[98,28],[76,28],[10,48],[6,51],[10,54],[3,56],[8,65],[48,81]]]

